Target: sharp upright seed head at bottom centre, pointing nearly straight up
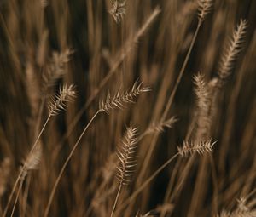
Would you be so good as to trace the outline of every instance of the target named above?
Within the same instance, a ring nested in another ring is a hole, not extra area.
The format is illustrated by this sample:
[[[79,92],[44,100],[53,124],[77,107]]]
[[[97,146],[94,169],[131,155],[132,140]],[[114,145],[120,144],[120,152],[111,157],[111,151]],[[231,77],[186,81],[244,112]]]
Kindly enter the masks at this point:
[[[131,125],[126,129],[125,140],[123,145],[117,149],[119,165],[117,166],[117,178],[120,185],[127,185],[131,181],[131,174],[136,166],[137,152],[137,128]]]

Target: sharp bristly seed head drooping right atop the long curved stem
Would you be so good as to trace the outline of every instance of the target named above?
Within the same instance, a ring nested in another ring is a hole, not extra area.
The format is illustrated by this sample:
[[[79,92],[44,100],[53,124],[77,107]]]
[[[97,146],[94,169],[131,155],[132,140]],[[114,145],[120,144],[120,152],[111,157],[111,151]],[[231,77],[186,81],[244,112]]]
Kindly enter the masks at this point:
[[[99,111],[100,112],[109,112],[112,109],[122,109],[124,108],[126,103],[134,103],[135,98],[144,92],[148,92],[150,89],[143,88],[143,83],[135,82],[131,88],[131,90],[126,91],[125,93],[121,93],[121,90],[117,92],[117,94],[111,96],[108,93],[106,100],[100,101]]]

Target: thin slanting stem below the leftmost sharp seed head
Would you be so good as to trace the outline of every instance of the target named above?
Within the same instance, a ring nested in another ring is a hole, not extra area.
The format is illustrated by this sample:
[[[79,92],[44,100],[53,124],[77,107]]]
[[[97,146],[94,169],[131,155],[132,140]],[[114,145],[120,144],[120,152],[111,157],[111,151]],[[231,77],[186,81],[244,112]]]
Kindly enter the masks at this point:
[[[33,151],[33,150],[35,149],[35,147],[37,146],[38,140],[40,139],[40,136],[43,134],[44,128],[46,127],[47,123],[49,123],[49,118],[50,118],[50,117],[51,117],[51,116],[48,116],[47,120],[45,121],[43,128],[41,129],[40,133],[38,134],[37,140],[35,140],[35,142],[34,142],[34,144],[33,144],[33,146],[32,146],[32,149],[31,149],[31,151],[29,152],[29,155],[32,153],[32,151]],[[12,197],[14,196],[14,193],[15,193],[15,189],[16,189],[18,183],[19,183],[19,180],[20,180],[21,175],[24,173],[25,165],[26,165],[26,164],[24,164],[24,165],[22,166],[22,168],[20,169],[20,174],[18,175],[17,179],[15,180],[15,186],[13,186],[13,189],[12,189],[12,191],[11,191],[11,193],[10,193],[9,198],[8,198],[8,203],[7,203],[6,207],[4,208],[3,217],[5,217],[6,214],[7,214],[7,211],[8,211],[8,208],[9,208],[9,204],[10,204],[11,199],[12,199]],[[24,179],[25,179],[25,177],[24,177]]]

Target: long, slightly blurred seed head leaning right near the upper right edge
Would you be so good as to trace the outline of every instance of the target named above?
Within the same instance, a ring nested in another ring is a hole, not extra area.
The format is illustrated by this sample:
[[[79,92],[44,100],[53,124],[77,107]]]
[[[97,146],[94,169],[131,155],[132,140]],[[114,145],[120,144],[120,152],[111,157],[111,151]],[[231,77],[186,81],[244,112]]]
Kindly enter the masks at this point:
[[[234,31],[233,36],[230,38],[230,43],[224,50],[224,54],[220,60],[218,77],[221,81],[224,81],[227,77],[230,76],[230,71],[234,66],[234,61],[241,51],[243,39],[246,35],[246,29],[247,21],[240,20],[240,23]]]

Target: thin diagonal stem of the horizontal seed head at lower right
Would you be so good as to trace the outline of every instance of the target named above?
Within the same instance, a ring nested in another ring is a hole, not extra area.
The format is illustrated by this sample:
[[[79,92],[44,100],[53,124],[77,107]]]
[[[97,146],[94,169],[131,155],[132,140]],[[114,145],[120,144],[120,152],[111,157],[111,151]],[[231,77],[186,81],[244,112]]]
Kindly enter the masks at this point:
[[[174,156],[172,156],[169,160],[167,160],[166,163],[164,163],[162,166],[160,166],[160,168],[158,168],[158,169],[154,172],[154,174],[152,174],[150,177],[148,177],[148,179],[143,182],[143,185],[141,185],[136,191],[134,191],[134,192],[131,194],[131,196],[125,201],[125,203],[123,203],[123,204],[120,206],[120,208],[119,208],[118,210],[121,210],[121,209],[125,208],[129,203],[131,203],[131,201],[132,201],[133,199],[135,199],[135,198],[137,197],[137,195],[138,195],[141,191],[143,191],[143,189],[144,189],[146,186],[148,186],[148,184],[149,184],[152,180],[154,180],[154,178],[155,178],[158,174],[160,174],[160,172],[161,172],[164,168],[166,168],[170,163],[172,163],[172,161],[173,161],[177,156],[179,156],[179,153],[178,153],[178,152],[177,152]]]

